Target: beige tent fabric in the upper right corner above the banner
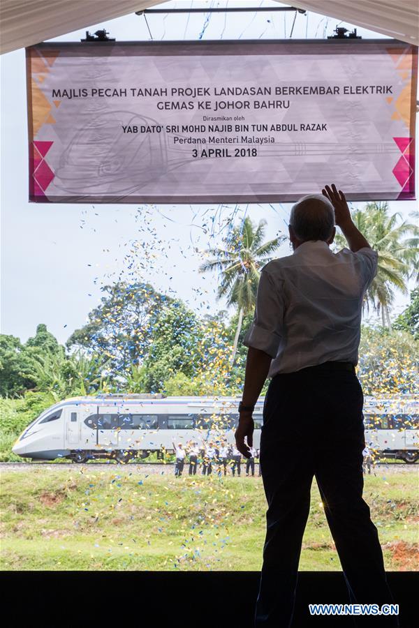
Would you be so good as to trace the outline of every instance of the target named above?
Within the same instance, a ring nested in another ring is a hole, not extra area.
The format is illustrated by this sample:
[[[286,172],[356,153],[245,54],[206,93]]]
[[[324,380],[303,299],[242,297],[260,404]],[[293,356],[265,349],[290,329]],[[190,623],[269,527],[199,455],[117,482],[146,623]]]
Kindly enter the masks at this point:
[[[290,5],[419,45],[418,0],[291,0]]]

